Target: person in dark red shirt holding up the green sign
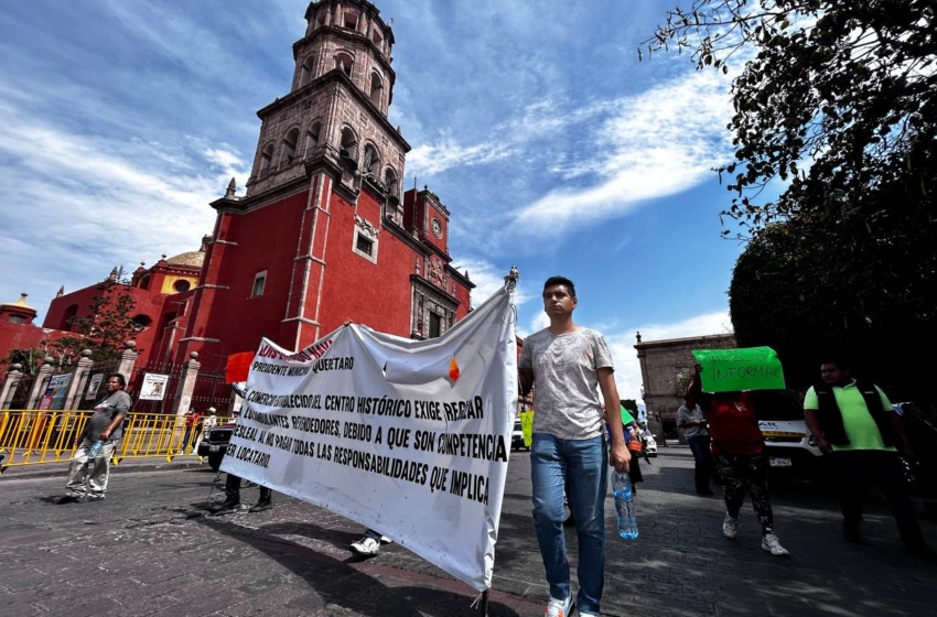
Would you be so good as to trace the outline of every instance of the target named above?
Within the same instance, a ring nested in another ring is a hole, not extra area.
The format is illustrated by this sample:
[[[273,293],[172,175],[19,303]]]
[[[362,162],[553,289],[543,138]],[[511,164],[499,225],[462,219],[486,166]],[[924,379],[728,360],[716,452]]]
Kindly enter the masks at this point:
[[[696,407],[699,403],[709,423],[712,436],[710,446],[722,478],[726,509],[722,533],[726,538],[735,538],[737,534],[739,515],[747,492],[762,527],[762,549],[776,556],[789,556],[774,532],[765,440],[758,429],[752,397],[748,392],[740,391],[707,394],[702,391],[701,371],[702,367],[697,365],[687,391],[688,405]]]

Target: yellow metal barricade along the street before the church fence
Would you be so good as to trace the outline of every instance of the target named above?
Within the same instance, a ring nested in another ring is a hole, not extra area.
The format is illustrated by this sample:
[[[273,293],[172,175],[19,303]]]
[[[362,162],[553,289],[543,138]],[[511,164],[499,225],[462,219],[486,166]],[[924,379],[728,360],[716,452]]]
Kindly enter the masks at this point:
[[[0,473],[7,467],[62,463],[75,453],[75,441],[85,431],[91,411],[0,411]],[[180,455],[195,454],[202,436],[202,422],[191,427],[189,419],[164,413],[129,413],[123,421],[123,436],[114,451],[111,462],[125,458],[163,457],[168,462]],[[219,418],[218,423],[228,421]],[[183,442],[189,439],[189,443]]]

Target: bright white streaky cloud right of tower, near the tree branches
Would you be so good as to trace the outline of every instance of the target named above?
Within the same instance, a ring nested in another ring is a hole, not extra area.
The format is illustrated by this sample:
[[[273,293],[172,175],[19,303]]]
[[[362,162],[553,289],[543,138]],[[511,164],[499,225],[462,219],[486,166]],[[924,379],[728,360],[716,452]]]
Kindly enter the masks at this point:
[[[554,167],[567,178],[596,181],[550,191],[520,208],[516,223],[541,236],[566,232],[710,178],[732,153],[728,87],[714,72],[691,73],[621,99],[590,156]]]

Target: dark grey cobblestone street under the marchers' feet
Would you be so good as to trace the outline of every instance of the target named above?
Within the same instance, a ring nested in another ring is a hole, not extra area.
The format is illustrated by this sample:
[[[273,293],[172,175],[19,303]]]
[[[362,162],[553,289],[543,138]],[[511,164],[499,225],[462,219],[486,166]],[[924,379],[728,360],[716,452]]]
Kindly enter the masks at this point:
[[[847,544],[837,501],[814,486],[773,496],[790,559],[758,545],[751,509],[739,538],[721,533],[718,497],[692,492],[688,450],[643,463],[640,537],[610,530],[603,615],[937,615],[937,567],[903,554],[887,510],[866,509],[864,543]],[[61,468],[58,466],[56,470]],[[489,615],[539,616],[547,598],[530,520],[529,458],[514,453],[502,515]],[[362,561],[347,546],[360,526],[274,495],[263,513],[204,516],[222,498],[193,465],[122,465],[108,499],[57,506],[56,476],[12,469],[0,479],[3,614],[99,616],[473,615],[474,593],[399,544]],[[244,491],[247,504],[256,489]],[[414,516],[419,516],[414,512]],[[925,521],[937,545],[937,529]],[[574,553],[574,532],[568,532]]]

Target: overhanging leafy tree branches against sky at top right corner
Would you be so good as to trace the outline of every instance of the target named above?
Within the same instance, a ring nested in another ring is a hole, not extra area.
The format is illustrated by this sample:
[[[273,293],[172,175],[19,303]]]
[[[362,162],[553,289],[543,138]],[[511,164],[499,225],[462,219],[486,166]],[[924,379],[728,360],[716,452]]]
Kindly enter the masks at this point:
[[[724,72],[748,58],[732,84],[736,162],[718,169],[729,217],[916,240],[937,227],[936,15],[931,0],[697,0],[644,46]],[[757,203],[775,178],[786,190]]]

